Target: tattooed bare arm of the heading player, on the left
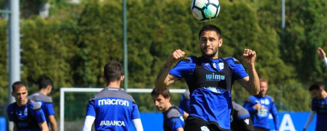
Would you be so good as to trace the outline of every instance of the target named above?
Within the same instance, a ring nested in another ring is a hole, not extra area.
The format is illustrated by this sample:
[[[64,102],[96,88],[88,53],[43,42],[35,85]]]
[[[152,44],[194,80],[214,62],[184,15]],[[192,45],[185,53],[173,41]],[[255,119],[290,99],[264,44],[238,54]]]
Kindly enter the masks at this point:
[[[157,79],[155,81],[155,86],[157,88],[167,87],[179,79],[170,75],[168,72],[171,66],[174,64],[174,62],[182,59],[184,56],[185,56],[185,52],[181,51],[180,49],[177,49],[168,57],[166,63],[159,71]]]

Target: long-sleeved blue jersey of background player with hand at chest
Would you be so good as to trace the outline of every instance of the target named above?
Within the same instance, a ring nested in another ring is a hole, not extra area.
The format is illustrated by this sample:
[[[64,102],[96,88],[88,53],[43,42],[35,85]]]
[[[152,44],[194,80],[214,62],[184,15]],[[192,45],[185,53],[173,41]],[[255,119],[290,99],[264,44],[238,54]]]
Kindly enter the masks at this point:
[[[255,110],[254,105],[260,103],[261,109]],[[279,130],[279,121],[277,108],[275,106],[274,98],[266,95],[265,97],[256,95],[250,96],[243,106],[250,112],[250,116],[254,127],[269,129],[269,114],[274,118],[275,130]]]

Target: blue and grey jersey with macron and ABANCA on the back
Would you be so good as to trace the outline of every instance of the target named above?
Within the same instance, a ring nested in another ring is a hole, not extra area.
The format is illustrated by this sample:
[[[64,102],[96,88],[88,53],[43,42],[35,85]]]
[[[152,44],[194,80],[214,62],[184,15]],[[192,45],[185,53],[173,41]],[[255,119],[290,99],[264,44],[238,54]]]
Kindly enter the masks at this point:
[[[129,131],[132,119],[140,112],[129,94],[120,88],[106,87],[88,102],[86,116],[95,117],[95,130]]]

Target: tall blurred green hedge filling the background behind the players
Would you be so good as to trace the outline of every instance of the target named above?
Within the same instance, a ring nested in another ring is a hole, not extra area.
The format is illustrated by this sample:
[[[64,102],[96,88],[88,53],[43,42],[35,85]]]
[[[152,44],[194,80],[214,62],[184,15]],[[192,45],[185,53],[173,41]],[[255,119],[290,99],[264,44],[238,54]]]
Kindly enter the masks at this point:
[[[308,87],[327,80],[327,68],[317,53],[318,47],[327,50],[326,0],[285,0],[284,30],[281,0],[219,0],[218,17],[205,23],[192,16],[191,2],[127,0],[128,88],[153,88],[175,49],[200,56],[198,31],[214,24],[222,30],[221,57],[241,61],[244,48],[256,51],[258,75],[269,81],[267,94],[275,98],[279,112],[311,110]],[[9,0],[0,0],[0,9],[8,8]],[[61,87],[105,87],[105,63],[123,63],[123,0],[20,0],[19,9],[21,81],[29,94],[37,92],[41,75],[54,81],[50,96],[59,121]],[[9,14],[2,13],[0,116],[6,116],[9,104],[8,24]],[[181,80],[170,88],[187,85]],[[83,124],[92,94],[65,93],[65,121]],[[141,112],[157,112],[149,93],[131,95]],[[172,103],[179,105],[180,96],[173,94]],[[243,105],[248,96],[235,82],[233,99]]]

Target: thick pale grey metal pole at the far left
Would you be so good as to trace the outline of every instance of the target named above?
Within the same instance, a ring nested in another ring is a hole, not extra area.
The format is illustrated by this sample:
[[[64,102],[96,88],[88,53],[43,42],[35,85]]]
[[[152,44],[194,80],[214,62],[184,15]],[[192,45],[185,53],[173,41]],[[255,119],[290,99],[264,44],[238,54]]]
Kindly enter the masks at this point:
[[[11,85],[15,81],[20,81],[20,29],[19,29],[19,0],[9,0],[9,90],[8,102],[13,103],[15,99],[11,97]],[[13,129],[13,124],[9,123],[9,130]]]

